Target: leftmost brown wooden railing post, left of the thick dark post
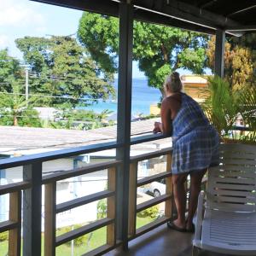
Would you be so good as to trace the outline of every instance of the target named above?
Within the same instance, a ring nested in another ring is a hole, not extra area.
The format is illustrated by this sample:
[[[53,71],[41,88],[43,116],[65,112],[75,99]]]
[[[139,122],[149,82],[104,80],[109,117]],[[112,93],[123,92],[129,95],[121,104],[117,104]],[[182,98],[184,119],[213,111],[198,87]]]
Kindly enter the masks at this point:
[[[9,194],[9,220],[19,224],[14,230],[9,230],[9,256],[20,255],[21,227],[21,191]]]

